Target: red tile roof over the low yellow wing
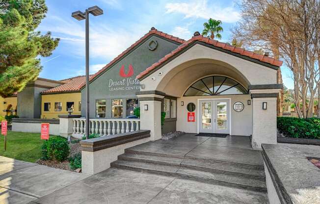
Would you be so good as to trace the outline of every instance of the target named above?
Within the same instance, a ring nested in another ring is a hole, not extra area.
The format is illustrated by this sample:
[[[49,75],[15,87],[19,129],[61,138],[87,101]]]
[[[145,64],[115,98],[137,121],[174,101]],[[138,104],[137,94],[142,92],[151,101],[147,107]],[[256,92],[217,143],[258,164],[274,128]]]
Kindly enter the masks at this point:
[[[90,75],[90,78],[92,75]],[[85,76],[72,77],[61,80],[64,84],[42,91],[41,94],[80,92],[80,88],[85,84]]]

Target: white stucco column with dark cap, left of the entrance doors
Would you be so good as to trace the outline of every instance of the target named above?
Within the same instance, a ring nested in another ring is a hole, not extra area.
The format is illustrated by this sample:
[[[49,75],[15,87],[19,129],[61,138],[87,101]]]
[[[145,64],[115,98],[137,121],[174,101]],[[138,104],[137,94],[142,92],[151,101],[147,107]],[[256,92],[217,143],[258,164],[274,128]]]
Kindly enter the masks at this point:
[[[138,97],[143,98],[143,95]],[[148,110],[144,110],[144,105],[148,105]],[[161,139],[160,101],[140,101],[140,129],[150,130],[151,141]]]

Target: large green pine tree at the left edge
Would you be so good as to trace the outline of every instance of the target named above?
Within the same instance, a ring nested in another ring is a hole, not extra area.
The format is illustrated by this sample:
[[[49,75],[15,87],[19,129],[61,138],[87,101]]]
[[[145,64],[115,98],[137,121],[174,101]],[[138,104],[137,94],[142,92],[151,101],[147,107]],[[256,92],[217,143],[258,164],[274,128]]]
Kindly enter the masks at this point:
[[[0,96],[21,91],[35,80],[47,57],[58,46],[51,33],[34,31],[46,17],[45,0],[0,0]]]

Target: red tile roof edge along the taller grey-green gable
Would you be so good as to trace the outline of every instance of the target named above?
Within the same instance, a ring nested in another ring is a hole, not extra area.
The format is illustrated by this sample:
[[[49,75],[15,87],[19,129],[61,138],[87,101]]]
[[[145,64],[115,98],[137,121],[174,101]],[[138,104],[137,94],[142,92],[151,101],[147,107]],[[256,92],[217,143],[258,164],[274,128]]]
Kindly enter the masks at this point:
[[[127,50],[123,51],[121,54],[119,54],[116,58],[114,58],[112,61],[110,61],[105,67],[103,67],[101,70],[99,70],[96,74],[93,75],[92,78],[90,78],[90,81],[92,79],[94,79],[95,77],[99,76],[101,73],[103,73],[105,70],[107,70],[109,67],[111,67],[112,64],[114,64],[116,61],[118,61],[121,57],[123,57],[126,53],[128,53],[129,51],[131,51],[135,46],[139,45],[144,39],[146,39],[147,37],[149,37],[150,35],[155,34],[155,35],[159,35],[161,37],[164,37],[166,39],[169,40],[173,40],[175,42],[178,43],[185,43],[186,41],[184,39],[180,39],[178,37],[174,37],[172,35],[169,35],[167,33],[161,32],[159,30],[157,30],[156,28],[152,27],[151,30],[145,34],[143,37],[141,37],[138,41],[136,41],[135,43],[133,43]],[[82,85],[84,86],[84,84]]]

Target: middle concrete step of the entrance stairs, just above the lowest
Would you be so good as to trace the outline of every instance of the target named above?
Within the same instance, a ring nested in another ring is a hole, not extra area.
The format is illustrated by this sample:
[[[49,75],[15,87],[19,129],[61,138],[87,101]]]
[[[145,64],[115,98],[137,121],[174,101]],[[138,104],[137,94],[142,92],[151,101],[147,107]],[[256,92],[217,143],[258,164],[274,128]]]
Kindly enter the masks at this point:
[[[118,156],[119,160],[137,161],[149,164],[183,167],[190,170],[206,171],[241,178],[251,178],[265,181],[265,173],[255,167],[247,168],[239,163],[197,158],[175,158],[162,155],[148,155],[143,153],[125,153]]]

